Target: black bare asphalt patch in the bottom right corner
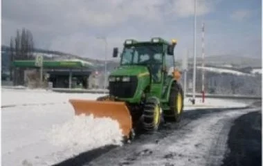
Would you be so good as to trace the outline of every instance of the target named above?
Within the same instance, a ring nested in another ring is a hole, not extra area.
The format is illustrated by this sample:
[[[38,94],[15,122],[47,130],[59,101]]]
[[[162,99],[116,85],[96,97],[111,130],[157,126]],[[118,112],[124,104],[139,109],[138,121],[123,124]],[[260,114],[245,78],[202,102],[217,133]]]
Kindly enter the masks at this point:
[[[262,113],[255,111],[237,118],[228,138],[230,152],[222,166],[262,165]]]

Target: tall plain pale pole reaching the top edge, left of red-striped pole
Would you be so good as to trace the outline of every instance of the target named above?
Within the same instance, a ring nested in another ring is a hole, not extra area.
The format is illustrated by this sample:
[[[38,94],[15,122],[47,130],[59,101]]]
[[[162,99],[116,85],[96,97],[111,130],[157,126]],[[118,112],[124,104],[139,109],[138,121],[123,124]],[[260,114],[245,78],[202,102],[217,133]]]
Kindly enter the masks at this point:
[[[193,73],[193,89],[192,89],[192,104],[195,104],[195,79],[196,79],[196,69],[197,69],[197,44],[196,40],[196,26],[197,26],[197,0],[194,0],[194,73]]]

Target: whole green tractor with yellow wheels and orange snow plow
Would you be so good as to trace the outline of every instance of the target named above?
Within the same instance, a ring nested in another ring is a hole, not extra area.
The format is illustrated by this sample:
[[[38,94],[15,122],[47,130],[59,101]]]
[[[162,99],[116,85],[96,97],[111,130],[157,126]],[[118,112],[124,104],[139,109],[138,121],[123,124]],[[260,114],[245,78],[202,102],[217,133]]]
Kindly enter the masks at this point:
[[[127,39],[120,53],[120,66],[109,75],[109,95],[98,100],[70,100],[75,114],[93,114],[117,120],[123,135],[140,125],[156,131],[161,122],[177,122],[183,113],[180,73],[174,70],[176,40],[154,37],[149,42]],[[114,48],[113,57],[118,57]],[[172,68],[172,72],[169,73]]]

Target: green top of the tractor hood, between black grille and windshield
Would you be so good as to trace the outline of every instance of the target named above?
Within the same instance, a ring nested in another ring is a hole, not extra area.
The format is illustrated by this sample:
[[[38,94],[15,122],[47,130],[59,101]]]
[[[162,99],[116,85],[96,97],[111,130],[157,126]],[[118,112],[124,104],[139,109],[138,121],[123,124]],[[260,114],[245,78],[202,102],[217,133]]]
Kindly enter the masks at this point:
[[[149,75],[149,71],[146,66],[119,66],[114,71],[111,72],[112,76],[121,76],[121,75],[136,75],[138,77],[142,77],[144,75]]]

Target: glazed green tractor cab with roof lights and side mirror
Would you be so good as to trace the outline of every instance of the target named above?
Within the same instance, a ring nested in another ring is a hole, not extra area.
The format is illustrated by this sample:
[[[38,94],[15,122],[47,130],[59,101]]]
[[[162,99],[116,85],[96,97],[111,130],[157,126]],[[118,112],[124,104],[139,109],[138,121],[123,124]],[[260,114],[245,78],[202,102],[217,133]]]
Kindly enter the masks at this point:
[[[170,68],[174,67],[174,46],[160,37],[150,42],[137,42],[127,39],[120,54],[120,66],[147,66],[152,76],[152,84],[161,84]],[[114,48],[113,57],[118,56],[118,48]]]

